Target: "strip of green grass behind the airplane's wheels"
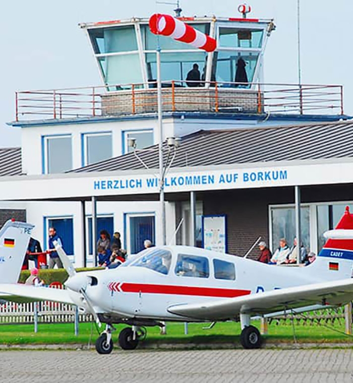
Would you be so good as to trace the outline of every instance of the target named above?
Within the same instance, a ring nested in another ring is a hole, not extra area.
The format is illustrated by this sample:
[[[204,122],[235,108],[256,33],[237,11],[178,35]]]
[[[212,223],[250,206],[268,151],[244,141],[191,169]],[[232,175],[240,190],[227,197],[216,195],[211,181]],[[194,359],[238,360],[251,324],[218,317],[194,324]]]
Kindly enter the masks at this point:
[[[253,324],[260,327],[260,323]],[[167,335],[160,335],[159,328],[148,328],[146,343],[234,343],[239,344],[239,323],[218,323],[210,330],[203,330],[208,324],[189,324],[189,334],[184,335],[183,323],[168,323]],[[295,325],[296,338],[301,343],[352,343],[353,337],[346,336],[344,322],[328,325],[333,329],[323,326]],[[116,343],[119,331],[125,326],[116,326],[117,331],[113,333],[113,341]],[[103,327],[102,327],[103,329]],[[339,331],[339,332],[338,332]],[[38,332],[34,333],[33,325],[0,325],[0,344],[5,345],[46,345],[46,344],[88,344],[94,343],[98,337],[95,325],[81,323],[79,335],[74,334],[74,324],[39,324]],[[288,322],[286,324],[271,324],[268,327],[268,335],[265,337],[268,343],[292,343],[293,328]]]

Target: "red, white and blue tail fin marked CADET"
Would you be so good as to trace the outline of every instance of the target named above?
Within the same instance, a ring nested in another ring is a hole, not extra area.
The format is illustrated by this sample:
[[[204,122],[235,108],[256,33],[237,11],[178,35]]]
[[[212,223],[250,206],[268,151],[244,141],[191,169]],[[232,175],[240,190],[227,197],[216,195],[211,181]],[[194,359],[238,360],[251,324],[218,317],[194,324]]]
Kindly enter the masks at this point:
[[[327,241],[312,266],[320,265],[321,272],[328,273],[328,280],[351,278],[353,271],[353,214],[349,213],[348,206],[336,228],[327,231],[324,236]],[[322,276],[324,276],[323,274]]]

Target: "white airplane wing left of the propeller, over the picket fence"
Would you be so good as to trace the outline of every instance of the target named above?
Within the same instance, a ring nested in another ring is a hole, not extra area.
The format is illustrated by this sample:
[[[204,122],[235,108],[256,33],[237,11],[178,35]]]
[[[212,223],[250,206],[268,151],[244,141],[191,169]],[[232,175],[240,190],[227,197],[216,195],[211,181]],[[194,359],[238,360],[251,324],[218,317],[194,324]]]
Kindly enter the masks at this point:
[[[71,292],[71,294],[72,293],[73,292]],[[35,287],[23,284],[0,284],[0,299],[15,302],[51,300],[55,302],[75,304],[67,290]]]

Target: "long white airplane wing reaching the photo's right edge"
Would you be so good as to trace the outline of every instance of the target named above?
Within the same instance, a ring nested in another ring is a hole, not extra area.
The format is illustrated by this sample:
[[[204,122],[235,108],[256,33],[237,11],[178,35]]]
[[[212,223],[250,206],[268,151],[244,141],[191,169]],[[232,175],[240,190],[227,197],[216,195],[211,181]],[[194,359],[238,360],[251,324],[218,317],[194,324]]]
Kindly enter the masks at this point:
[[[168,311],[195,319],[228,320],[240,313],[264,315],[312,305],[341,305],[353,299],[353,279],[283,288],[197,304],[179,304]]]

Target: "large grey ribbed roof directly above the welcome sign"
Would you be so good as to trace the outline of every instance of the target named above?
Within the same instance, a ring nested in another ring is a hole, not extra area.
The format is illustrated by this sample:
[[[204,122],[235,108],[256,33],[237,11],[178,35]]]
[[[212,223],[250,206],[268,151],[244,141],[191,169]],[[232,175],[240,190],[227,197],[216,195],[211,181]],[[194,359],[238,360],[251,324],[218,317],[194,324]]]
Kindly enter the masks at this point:
[[[149,168],[158,167],[157,146],[138,151]],[[155,149],[155,150],[151,150]],[[163,145],[164,162],[167,149]],[[184,136],[172,167],[353,157],[353,121],[284,127],[199,131]],[[144,168],[133,153],[91,164],[75,172]]]

